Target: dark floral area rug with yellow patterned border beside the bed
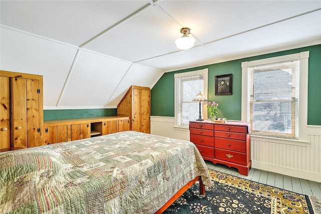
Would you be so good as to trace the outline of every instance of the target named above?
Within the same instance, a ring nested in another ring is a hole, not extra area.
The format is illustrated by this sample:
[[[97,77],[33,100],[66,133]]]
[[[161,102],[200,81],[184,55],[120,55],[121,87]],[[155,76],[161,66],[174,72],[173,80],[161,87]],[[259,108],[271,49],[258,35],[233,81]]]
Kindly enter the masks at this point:
[[[194,184],[164,213],[321,213],[317,197],[214,170],[209,172],[212,186],[206,187],[205,195],[200,195],[199,184]]]

